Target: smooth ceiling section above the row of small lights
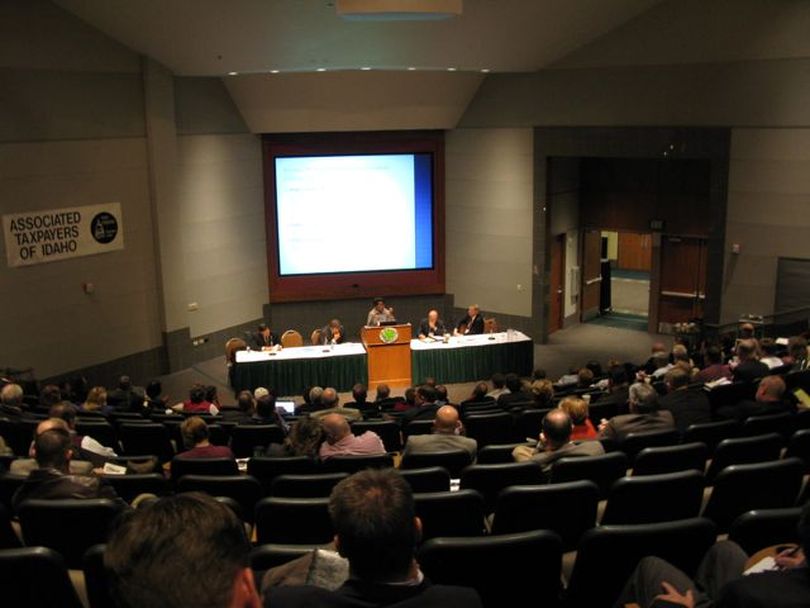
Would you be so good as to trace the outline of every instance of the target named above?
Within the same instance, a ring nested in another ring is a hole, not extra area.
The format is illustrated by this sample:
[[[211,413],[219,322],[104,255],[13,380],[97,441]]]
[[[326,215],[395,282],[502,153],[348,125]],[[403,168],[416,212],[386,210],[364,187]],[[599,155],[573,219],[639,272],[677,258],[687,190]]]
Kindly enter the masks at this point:
[[[360,69],[529,72],[660,0],[464,0],[441,21],[349,21],[332,0],[55,0],[181,76]]]

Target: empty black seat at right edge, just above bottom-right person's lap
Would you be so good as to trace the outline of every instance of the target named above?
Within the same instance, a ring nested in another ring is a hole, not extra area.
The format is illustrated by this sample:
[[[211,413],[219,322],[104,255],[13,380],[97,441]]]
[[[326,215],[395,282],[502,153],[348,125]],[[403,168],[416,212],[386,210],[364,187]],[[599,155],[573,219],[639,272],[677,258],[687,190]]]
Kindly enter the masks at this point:
[[[738,516],[731,524],[728,539],[748,555],[774,545],[799,544],[801,507],[755,509]]]

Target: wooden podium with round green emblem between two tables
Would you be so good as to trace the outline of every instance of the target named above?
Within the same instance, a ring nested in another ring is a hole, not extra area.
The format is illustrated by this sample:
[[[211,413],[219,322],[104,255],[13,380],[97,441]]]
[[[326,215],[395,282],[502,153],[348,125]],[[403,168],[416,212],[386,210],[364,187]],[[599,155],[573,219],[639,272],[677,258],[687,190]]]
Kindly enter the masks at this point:
[[[368,353],[368,387],[411,385],[411,324],[363,327]]]

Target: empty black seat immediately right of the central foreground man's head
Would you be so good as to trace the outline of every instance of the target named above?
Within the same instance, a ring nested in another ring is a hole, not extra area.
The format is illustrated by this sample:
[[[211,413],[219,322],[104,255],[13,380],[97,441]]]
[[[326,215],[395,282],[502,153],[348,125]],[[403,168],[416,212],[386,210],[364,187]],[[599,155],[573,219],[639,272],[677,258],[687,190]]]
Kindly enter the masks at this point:
[[[475,490],[419,493],[414,502],[423,539],[484,533],[484,499]]]

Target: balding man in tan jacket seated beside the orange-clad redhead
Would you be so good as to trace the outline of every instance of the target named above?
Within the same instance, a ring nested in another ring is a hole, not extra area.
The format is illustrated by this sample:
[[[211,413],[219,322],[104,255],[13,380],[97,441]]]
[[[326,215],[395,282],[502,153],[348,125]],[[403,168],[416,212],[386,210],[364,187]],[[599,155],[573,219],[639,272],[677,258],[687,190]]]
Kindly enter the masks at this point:
[[[560,458],[601,456],[605,453],[598,441],[572,441],[573,431],[574,424],[564,410],[551,410],[543,418],[543,430],[537,445],[534,448],[519,445],[512,451],[512,457],[516,462],[533,460],[542,466],[544,475],[549,475],[552,465]]]

